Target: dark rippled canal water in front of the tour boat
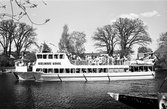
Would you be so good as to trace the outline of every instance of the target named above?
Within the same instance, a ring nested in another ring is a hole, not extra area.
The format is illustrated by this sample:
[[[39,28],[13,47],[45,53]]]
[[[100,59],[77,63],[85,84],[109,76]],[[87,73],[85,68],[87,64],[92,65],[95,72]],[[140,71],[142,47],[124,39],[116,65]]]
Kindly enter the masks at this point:
[[[133,109],[107,93],[157,93],[167,71],[156,76],[153,80],[34,82],[0,73],[0,109]],[[165,83],[161,91],[166,90]]]

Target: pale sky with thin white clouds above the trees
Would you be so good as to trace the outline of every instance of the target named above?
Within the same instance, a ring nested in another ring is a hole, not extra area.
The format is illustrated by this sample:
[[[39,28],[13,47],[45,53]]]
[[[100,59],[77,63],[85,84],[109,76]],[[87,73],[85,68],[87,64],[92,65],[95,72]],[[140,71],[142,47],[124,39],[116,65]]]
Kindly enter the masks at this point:
[[[148,45],[153,51],[158,47],[157,39],[161,33],[167,32],[167,0],[30,0],[38,4],[37,8],[27,9],[31,20],[35,23],[43,23],[45,19],[50,21],[45,25],[34,25],[36,28],[38,43],[52,43],[49,45],[53,51],[57,51],[58,43],[65,24],[69,27],[69,33],[80,31],[86,34],[86,52],[97,52],[91,37],[98,27],[112,24],[116,19],[139,18],[148,26],[148,34],[152,38],[152,44]],[[6,9],[1,12],[11,13],[9,1],[0,0],[6,4]],[[45,4],[46,3],[46,4]],[[20,10],[14,8],[14,13]],[[26,17],[20,22],[31,25]],[[133,50],[137,51],[138,46]]]

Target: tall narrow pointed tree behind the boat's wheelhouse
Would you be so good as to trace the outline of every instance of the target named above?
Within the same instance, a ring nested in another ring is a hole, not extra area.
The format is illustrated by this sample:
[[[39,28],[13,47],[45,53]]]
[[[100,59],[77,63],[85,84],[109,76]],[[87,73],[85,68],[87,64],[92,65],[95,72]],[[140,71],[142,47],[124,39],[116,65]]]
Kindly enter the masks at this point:
[[[63,53],[71,53],[73,48],[70,45],[70,34],[68,33],[68,26],[64,25],[63,33],[59,42],[59,51]]]

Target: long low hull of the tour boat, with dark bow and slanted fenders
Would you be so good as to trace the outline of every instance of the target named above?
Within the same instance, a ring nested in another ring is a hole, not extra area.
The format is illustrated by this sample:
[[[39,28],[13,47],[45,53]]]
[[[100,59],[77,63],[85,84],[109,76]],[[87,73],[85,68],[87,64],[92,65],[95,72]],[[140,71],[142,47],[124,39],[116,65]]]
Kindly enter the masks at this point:
[[[117,73],[37,73],[15,72],[19,80],[42,81],[113,81],[154,79],[154,72],[117,72]]]

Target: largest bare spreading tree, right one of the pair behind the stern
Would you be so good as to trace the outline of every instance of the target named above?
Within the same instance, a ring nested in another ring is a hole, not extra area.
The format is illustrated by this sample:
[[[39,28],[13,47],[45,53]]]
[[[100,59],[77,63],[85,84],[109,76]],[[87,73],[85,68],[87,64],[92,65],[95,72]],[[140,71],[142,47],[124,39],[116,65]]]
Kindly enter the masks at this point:
[[[120,39],[121,57],[133,53],[132,47],[135,44],[145,46],[152,42],[146,31],[147,26],[139,19],[119,18],[113,27]]]

